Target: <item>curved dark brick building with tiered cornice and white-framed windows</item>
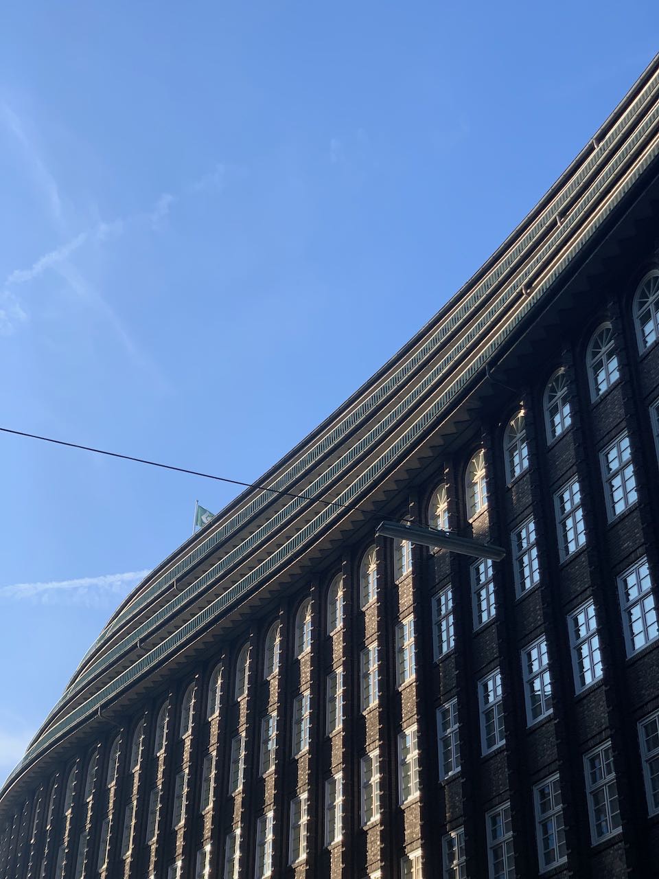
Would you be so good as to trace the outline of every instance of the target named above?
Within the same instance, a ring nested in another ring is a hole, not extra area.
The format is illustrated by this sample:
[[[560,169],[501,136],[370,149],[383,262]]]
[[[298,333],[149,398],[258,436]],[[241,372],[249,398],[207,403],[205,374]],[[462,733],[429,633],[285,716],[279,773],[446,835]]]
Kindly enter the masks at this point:
[[[0,792],[0,876],[650,875],[658,155],[655,60],[431,323],[119,607]]]

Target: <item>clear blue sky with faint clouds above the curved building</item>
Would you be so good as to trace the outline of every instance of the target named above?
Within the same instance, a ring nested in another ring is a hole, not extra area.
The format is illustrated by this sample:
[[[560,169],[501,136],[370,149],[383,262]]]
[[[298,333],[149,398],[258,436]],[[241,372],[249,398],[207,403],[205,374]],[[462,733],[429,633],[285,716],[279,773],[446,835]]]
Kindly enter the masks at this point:
[[[651,3],[4,4],[0,425],[251,481],[488,258]],[[235,490],[0,435],[0,776]]]

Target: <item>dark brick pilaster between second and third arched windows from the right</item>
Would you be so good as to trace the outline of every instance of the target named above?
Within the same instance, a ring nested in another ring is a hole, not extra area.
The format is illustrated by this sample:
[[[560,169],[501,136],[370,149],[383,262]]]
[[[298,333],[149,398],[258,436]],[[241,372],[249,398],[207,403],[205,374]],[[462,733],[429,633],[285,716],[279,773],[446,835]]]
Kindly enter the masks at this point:
[[[565,362],[571,383],[572,429],[574,431],[576,472],[582,489],[583,518],[586,523],[586,555],[604,669],[606,723],[611,731],[613,761],[619,795],[620,823],[625,840],[626,865],[631,875],[641,868],[645,854],[644,834],[634,823],[634,784],[626,735],[629,703],[626,694],[625,650],[619,631],[618,598],[612,578],[607,541],[605,495],[599,467],[599,449],[590,425],[590,395],[584,370],[574,367],[574,352],[566,352]],[[583,768],[582,768],[583,773]],[[640,785],[637,788],[641,788]],[[645,861],[647,862],[647,861]],[[641,874],[642,875],[642,874]]]

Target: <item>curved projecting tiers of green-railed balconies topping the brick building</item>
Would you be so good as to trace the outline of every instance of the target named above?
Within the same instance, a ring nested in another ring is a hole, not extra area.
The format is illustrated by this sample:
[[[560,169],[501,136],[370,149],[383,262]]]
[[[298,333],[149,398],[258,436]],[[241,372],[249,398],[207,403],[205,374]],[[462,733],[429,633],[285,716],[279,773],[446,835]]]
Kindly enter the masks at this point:
[[[243,492],[137,587],[84,657],[4,793],[33,760],[272,584],[372,496],[481,381],[485,367],[501,358],[629,193],[655,173],[648,171],[657,156],[655,59],[596,139],[474,279],[259,481],[302,497]]]

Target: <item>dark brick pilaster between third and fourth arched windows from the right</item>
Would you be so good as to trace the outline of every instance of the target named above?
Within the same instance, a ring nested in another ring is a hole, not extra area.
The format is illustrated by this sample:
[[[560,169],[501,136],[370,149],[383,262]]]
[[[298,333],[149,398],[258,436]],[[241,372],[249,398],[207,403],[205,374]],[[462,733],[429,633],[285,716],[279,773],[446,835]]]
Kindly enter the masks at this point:
[[[558,535],[555,527],[554,496],[547,472],[547,438],[544,432],[544,413],[534,408],[530,389],[523,392],[526,445],[529,455],[529,483],[535,540],[540,568],[540,599],[542,621],[547,640],[549,672],[552,682],[554,708],[554,740],[561,776],[563,825],[568,849],[568,869],[572,875],[588,875],[589,867],[583,859],[583,825],[576,810],[576,797],[583,795],[583,765],[575,748],[573,730],[576,729],[575,686],[570,662],[570,645],[566,617],[557,589],[559,570]]]

